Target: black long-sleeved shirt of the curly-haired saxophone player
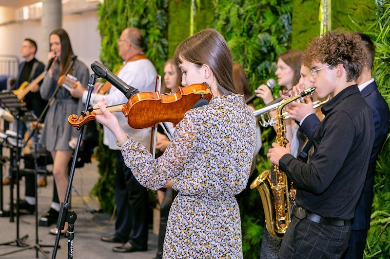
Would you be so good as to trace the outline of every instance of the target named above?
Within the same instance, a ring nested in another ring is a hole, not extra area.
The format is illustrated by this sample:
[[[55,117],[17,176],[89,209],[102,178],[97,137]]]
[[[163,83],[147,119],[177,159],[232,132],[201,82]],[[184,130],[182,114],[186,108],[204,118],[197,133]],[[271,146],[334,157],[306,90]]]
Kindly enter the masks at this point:
[[[323,217],[351,220],[374,141],[371,109],[353,85],[321,110],[325,118],[314,133],[310,163],[287,154],[279,165],[294,182],[297,205]]]

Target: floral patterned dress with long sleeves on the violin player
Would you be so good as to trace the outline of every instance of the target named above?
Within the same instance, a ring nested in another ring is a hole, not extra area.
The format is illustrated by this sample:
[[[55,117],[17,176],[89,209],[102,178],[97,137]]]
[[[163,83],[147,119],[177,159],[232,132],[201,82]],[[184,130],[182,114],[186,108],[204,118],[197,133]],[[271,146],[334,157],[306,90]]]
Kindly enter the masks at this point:
[[[234,195],[248,182],[255,127],[242,96],[225,95],[189,110],[157,159],[131,139],[121,148],[141,185],[157,190],[174,179],[164,258],[242,258]]]

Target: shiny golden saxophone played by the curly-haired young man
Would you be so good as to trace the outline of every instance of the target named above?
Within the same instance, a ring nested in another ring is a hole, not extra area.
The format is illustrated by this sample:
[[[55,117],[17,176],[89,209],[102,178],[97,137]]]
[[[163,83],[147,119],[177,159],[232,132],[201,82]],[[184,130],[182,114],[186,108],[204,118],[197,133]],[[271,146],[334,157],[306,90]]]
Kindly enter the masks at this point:
[[[286,139],[286,114],[283,114],[284,108],[293,101],[311,95],[315,88],[305,89],[300,94],[284,99],[279,102],[277,107],[276,119],[276,144],[285,147]],[[273,165],[273,172],[276,177],[276,184],[273,185],[270,179],[270,170],[260,173],[251,184],[251,189],[256,188],[263,204],[265,223],[268,232],[275,238],[283,238],[287,227],[291,222],[291,204],[294,197],[292,183],[289,190],[287,176],[277,165]]]

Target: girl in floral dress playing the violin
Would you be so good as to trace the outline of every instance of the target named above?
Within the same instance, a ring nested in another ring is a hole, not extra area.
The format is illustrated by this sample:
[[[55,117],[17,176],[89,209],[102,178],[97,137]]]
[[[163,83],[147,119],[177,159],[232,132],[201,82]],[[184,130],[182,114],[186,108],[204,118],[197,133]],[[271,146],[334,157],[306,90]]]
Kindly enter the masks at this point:
[[[175,62],[182,85],[205,83],[214,97],[189,110],[176,126],[165,153],[153,159],[128,138],[104,99],[97,120],[115,135],[137,180],[156,190],[173,180],[178,194],[171,207],[164,257],[242,258],[241,222],[234,195],[248,181],[256,142],[252,111],[236,94],[232,54],[217,31],[207,29],[182,42]]]

